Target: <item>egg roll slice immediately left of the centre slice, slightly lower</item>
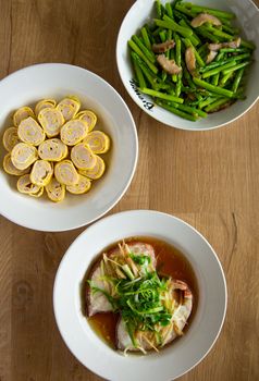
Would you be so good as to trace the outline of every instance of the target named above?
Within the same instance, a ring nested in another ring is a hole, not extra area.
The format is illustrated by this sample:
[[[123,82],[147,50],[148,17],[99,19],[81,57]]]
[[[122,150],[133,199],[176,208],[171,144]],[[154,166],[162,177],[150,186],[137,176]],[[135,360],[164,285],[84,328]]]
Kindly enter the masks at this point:
[[[18,170],[26,170],[38,159],[37,148],[27,144],[18,143],[11,151],[13,165]]]

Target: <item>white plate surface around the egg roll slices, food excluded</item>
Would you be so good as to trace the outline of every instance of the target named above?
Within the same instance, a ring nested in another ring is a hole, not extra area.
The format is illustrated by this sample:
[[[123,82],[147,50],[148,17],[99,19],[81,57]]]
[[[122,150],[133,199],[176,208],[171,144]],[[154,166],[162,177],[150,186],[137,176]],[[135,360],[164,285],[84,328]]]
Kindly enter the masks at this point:
[[[0,213],[9,220],[40,231],[65,231],[88,224],[110,210],[126,192],[137,163],[138,140],[132,114],[121,96],[106,81],[77,66],[46,63],[20,70],[0,82],[0,136],[10,126],[15,109],[41,98],[76,95],[84,108],[98,115],[96,130],[111,137],[106,155],[108,169],[86,195],[67,195],[53,204],[16,190],[16,181],[0,171]],[[2,140],[2,139],[1,139]],[[3,149],[0,149],[2,162]]]

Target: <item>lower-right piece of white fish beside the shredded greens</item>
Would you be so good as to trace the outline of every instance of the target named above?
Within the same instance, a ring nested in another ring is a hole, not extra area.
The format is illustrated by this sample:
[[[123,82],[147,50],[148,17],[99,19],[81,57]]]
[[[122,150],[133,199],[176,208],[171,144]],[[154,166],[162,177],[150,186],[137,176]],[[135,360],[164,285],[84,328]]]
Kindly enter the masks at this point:
[[[183,329],[193,308],[193,294],[187,284],[182,281],[173,281],[172,297],[177,299],[177,306],[172,315],[171,323],[163,327],[160,331],[162,344],[156,343],[157,337],[150,331],[137,331],[134,334],[136,346],[133,345],[132,339],[127,332],[126,324],[121,318],[116,327],[116,344],[120,351],[150,351],[156,347],[162,347],[171,343],[178,335],[183,334]],[[159,329],[159,328],[158,328]],[[156,345],[155,345],[156,344]]]

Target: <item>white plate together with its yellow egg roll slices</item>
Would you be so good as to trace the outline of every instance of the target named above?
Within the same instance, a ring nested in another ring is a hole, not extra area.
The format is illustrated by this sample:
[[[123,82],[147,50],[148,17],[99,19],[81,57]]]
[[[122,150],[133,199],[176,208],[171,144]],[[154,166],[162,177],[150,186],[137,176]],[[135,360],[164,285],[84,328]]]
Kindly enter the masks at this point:
[[[2,216],[66,231],[121,199],[138,139],[131,111],[104,79],[78,66],[37,64],[0,82],[0,105]]]

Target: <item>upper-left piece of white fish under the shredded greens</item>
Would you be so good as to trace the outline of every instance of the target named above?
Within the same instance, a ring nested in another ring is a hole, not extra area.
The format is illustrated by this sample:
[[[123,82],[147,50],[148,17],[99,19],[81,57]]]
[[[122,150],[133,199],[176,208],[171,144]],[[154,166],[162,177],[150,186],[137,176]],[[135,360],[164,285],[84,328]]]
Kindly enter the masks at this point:
[[[125,254],[123,254],[122,250],[125,250]],[[155,257],[155,250],[153,247],[149,244],[145,244],[141,242],[133,242],[128,243],[125,245],[122,245],[121,248],[118,246],[115,247],[112,251],[109,251],[109,255],[107,258],[116,261],[120,265],[130,265],[131,268],[133,269],[134,275],[138,275],[139,271],[139,265],[135,263],[132,258],[127,254],[134,254],[136,256],[139,255],[145,255],[150,257],[151,261],[148,265],[148,270],[153,271],[156,268],[156,257]],[[102,259],[103,260],[103,259]],[[109,260],[108,260],[109,262]],[[106,293],[111,294],[111,286],[109,282],[107,282],[103,279],[103,275],[107,273],[103,273],[102,271],[102,263],[101,261],[98,263],[97,268],[92,272],[92,275],[90,278],[91,285],[103,290]],[[107,267],[106,267],[107,268]],[[113,271],[110,269],[111,272]],[[119,276],[119,278],[126,278],[120,268],[118,269],[119,273],[115,273],[113,275]],[[108,312],[112,311],[112,305],[108,300],[107,296],[102,292],[88,292],[87,294],[87,299],[88,299],[88,316],[92,316],[97,312]]]

